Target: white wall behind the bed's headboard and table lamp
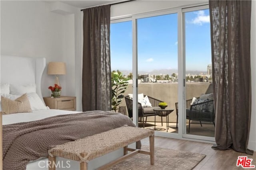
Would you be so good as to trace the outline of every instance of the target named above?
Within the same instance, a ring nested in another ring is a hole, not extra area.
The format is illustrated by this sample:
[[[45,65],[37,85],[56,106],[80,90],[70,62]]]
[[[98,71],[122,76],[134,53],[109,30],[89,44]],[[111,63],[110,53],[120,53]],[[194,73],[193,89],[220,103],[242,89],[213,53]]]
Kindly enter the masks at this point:
[[[42,1],[1,1],[1,55],[45,57],[46,62],[61,61],[63,56],[63,17],[50,12]],[[47,69],[42,77],[43,96],[49,96],[48,86],[54,76]],[[60,76],[64,86],[65,77]]]

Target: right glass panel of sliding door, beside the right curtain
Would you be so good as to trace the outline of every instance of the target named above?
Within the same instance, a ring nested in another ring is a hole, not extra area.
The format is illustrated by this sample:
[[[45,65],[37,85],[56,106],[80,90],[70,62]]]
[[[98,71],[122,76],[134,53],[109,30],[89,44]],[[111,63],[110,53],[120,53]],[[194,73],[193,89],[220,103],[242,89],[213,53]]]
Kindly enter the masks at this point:
[[[186,58],[184,134],[189,134],[184,136],[213,140],[215,114],[209,9],[207,6],[186,8],[183,18]]]

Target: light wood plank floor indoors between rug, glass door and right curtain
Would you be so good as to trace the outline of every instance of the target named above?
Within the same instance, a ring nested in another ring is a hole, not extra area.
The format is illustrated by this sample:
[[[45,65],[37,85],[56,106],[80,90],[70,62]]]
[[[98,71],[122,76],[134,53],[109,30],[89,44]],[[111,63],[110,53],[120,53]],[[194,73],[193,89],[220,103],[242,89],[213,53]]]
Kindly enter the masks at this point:
[[[149,145],[148,138],[143,139],[142,145]],[[242,170],[241,166],[236,166],[238,156],[248,156],[253,159],[252,165],[256,165],[256,152],[254,155],[247,155],[229,150],[214,150],[212,144],[185,141],[164,137],[155,137],[155,147],[183,150],[206,154],[206,157],[194,168],[194,170]]]

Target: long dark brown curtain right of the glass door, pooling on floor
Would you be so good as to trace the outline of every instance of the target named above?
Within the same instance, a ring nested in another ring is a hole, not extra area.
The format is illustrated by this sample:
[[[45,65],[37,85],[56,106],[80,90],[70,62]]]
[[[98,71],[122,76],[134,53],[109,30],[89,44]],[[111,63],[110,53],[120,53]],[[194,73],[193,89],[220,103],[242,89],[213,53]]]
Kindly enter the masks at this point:
[[[212,79],[216,111],[213,149],[247,149],[251,118],[251,1],[210,0]]]

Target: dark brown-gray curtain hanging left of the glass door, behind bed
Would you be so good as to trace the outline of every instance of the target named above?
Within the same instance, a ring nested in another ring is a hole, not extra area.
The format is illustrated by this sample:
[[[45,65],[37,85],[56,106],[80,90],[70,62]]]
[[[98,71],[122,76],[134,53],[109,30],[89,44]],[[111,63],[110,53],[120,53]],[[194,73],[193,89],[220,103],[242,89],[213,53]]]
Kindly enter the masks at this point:
[[[82,109],[110,111],[110,5],[83,12]]]

